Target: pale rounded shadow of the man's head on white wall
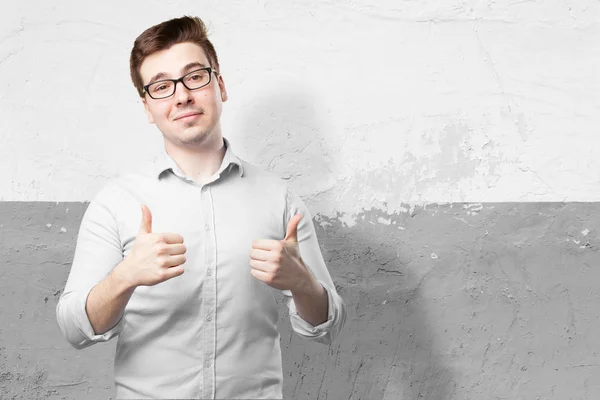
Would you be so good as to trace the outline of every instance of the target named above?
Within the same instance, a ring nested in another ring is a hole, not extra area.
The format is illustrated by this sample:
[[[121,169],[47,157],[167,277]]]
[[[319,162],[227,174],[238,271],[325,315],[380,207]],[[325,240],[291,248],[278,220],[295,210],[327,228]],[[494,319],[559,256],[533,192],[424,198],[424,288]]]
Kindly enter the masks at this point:
[[[274,76],[245,90],[235,143],[251,162],[290,180],[300,195],[334,187],[336,146],[328,139],[327,110],[309,88]]]

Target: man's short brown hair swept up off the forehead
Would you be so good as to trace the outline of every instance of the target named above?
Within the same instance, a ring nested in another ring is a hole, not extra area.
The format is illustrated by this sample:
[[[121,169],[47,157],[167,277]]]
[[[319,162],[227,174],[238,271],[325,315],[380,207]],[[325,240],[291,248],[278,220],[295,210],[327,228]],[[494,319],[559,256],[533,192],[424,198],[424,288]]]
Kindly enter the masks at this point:
[[[177,43],[191,42],[202,47],[208,57],[210,66],[219,71],[217,52],[210,40],[206,25],[198,17],[184,16],[174,18],[146,29],[135,39],[129,69],[133,85],[140,97],[143,97],[144,83],[140,75],[140,66],[149,55],[157,51],[166,50]]]

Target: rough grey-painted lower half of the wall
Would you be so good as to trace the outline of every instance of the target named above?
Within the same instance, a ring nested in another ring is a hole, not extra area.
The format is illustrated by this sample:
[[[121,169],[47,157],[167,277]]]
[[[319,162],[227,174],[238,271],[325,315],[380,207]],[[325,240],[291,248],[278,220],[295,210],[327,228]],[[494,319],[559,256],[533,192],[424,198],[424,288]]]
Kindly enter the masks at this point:
[[[115,342],[77,351],[55,307],[86,203],[0,203],[0,398],[114,397]],[[331,346],[292,334],[288,399],[600,398],[598,203],[371,209],[314,219],[349,310]]]

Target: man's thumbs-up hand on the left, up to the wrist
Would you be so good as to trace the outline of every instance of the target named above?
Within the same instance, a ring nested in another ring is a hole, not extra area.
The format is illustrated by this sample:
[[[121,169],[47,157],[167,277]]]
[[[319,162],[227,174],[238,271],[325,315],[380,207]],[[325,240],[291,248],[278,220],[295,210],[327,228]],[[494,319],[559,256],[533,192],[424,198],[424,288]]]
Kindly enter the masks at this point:
[[[142,205],[142,222],[131,252],[115,269],[132,287],[153,286],[183,274],[185,251],[180,234],[152,233],[152,214]]]

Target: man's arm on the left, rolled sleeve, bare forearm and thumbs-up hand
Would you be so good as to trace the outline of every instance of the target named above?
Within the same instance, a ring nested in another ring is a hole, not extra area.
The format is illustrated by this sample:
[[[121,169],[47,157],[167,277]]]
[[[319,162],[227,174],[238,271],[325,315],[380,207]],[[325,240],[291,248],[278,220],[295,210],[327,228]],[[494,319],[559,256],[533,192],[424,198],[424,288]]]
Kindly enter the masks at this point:
[[[176,233],[152,233],[152,214],[146,206],[131,252],[114,269],[110,267],[122,259],[122,251],[115,220],[107,212],[100,202],[88,207],[67,288],[57,306],[59,325],[75,348],[119,334],[125,307],[137,286],[183,274],[183,238]]]

